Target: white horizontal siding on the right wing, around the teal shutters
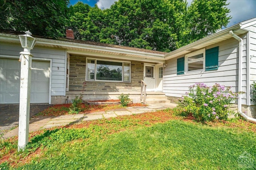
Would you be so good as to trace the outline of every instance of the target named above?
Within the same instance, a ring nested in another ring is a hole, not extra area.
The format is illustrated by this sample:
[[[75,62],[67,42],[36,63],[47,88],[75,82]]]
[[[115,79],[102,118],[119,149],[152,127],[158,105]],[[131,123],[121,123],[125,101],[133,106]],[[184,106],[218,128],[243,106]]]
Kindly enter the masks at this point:
[[[246,104],[246,34],[241,36],[243,46],[243,74],[242,74],[242,104]],[[190,74],[177,75],[177,59],[179,56],[166,61],[164,69],[163,92],[166,96],[181,97],[188,92],[188,87],[197,82],[204,82],[208,86],[215,83],[231,86],[233,92],[238,91],[238,41],[234,38],[218,43],[218,70],[191,72]],[[215,47],[212,45],[206,49]],[[186,67],[186,66],[185,66]]]

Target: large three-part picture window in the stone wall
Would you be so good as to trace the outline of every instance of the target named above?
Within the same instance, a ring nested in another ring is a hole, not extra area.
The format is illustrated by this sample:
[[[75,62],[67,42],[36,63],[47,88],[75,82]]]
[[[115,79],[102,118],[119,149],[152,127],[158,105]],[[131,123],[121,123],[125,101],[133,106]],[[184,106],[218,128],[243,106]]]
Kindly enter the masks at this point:
[[[130,82],[131,63],[87,59],[86,80]]]

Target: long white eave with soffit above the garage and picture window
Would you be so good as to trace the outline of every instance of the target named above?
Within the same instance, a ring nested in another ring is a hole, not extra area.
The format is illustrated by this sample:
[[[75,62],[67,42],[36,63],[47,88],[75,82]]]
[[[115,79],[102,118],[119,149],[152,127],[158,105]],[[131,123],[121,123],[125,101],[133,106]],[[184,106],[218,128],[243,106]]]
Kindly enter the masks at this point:
[[[164,55],[167,53],[160,51],[152,51],[146,49],[138,49],[133,47],[125,47],[119,45],[108,45],[104,43],[96,43],[90,41],[81,41],[81,40],[70,40],[70,39],[45,39],[41,37],[36,37],[35,47],[50,47],[50,48],[60,48],[67,49],[67,52],[70,54],[79,54],[79,55],[106,55],[106,57],[115,56],[126,57],[126,59],[138,58],[136,60],[142,61],[150,60],[152,62],[164,63]],[[1,42],[7,43],[20,43],[18,35],[0,33]]]

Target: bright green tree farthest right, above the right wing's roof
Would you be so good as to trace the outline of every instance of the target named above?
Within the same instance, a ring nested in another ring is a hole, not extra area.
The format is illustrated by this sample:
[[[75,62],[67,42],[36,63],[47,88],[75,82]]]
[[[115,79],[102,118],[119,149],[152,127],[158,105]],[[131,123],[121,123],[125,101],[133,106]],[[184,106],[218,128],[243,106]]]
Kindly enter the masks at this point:
[[[226,27],[230,10],[226,0],[193,0],[188,7],[186,28],[181,38],[183,45],[196,41]]]

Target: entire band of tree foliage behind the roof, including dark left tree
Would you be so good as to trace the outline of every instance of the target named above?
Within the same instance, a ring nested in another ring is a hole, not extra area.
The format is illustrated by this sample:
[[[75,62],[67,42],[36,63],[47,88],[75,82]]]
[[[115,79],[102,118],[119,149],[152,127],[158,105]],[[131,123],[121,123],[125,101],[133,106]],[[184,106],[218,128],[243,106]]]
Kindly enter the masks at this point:
[[[69,0],[0,0],[0,29],[30,30],[35,35],[64,36],[156,51],[173,51],[226,27],[227,0],[118,0],[101,10]]]

